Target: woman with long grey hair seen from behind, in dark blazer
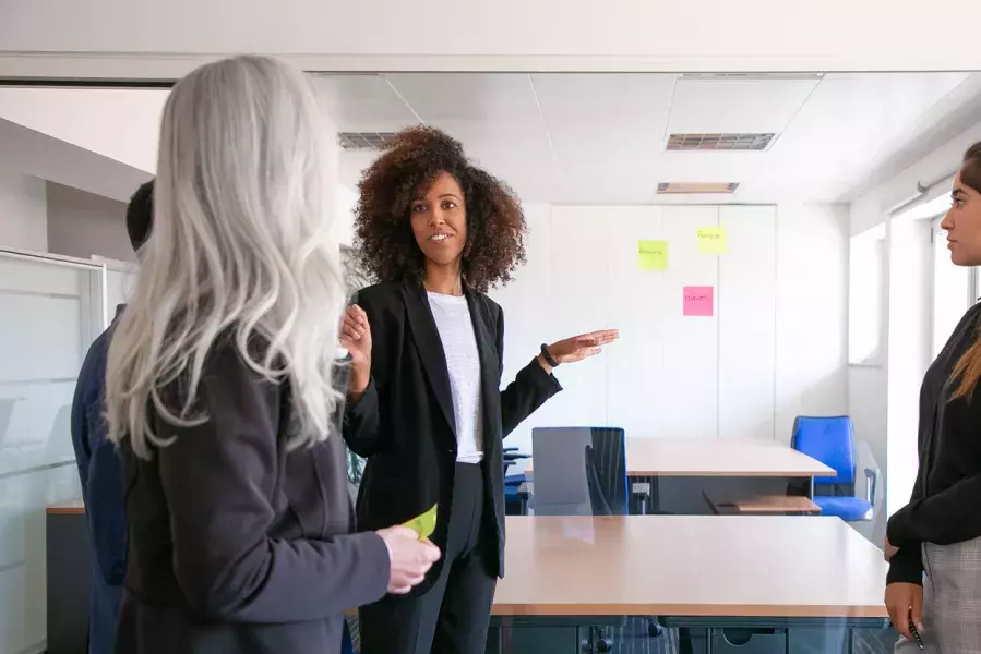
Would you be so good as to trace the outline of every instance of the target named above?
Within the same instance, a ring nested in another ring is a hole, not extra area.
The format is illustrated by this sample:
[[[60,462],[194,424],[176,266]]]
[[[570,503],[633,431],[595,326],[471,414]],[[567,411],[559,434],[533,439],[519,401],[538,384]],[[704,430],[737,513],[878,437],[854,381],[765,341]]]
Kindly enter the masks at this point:
[[[440,556],[406,526],[354,533],[321,121],[303,75],[264,57],[201,66],[167,99],[106,376],[129,522],[119,654],[337,654],[346,610]]]

